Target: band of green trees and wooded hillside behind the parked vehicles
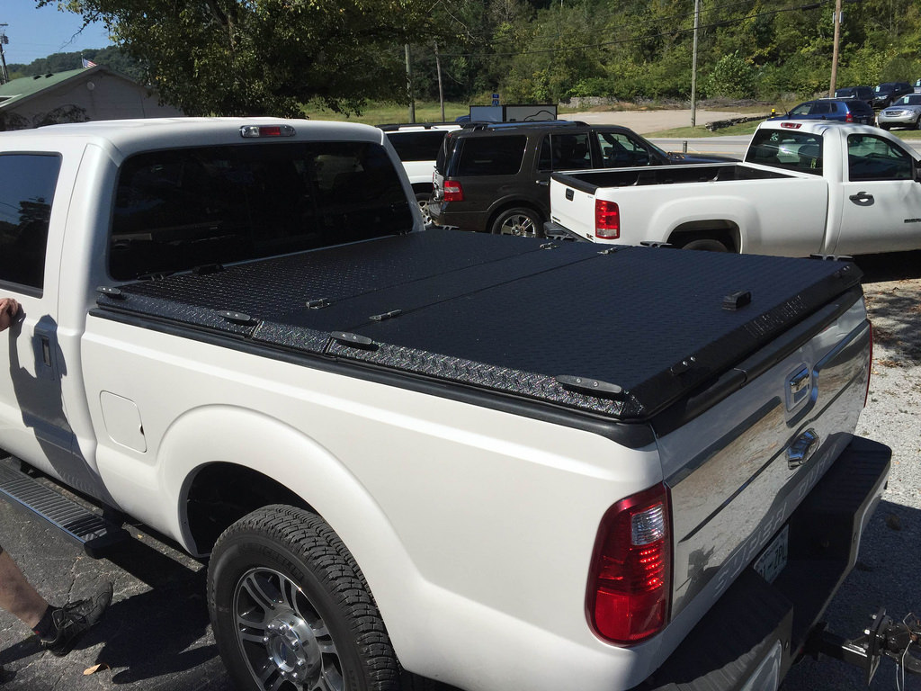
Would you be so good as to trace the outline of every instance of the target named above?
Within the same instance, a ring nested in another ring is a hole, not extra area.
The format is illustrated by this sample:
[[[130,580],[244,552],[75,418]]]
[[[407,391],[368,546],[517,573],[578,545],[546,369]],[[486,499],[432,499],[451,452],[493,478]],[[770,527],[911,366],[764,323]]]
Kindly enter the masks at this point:
[[[447,100],[488,103],[494,92],[506,103],[687,100],[691,92],[693,0],[36,2],[105,21],[119,48],[84,56],[156,86],[190,114],[297,115],[301,104],[321,103],[354,115],[367,100],[437,100],[436,45]],[[833,22],[826,3],[704,3],[698,97],[827,93]],[[914,81],[918,45],[917,0],[845,3],[837,86]],[[70,69],[78,60],[60,53],[11,71]]]

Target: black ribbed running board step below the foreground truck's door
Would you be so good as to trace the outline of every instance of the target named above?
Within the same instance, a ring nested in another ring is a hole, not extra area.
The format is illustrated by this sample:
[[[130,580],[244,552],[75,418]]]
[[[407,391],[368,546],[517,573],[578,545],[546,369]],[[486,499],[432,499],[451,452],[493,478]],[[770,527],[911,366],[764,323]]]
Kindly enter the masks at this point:
[[[5,462],[0,462],[0,498],[7,498],[14,506],[29,509],[50,522],[83,545],[89,556],[95,557],[100,550],[129,536],[121,525],[93,513]]]

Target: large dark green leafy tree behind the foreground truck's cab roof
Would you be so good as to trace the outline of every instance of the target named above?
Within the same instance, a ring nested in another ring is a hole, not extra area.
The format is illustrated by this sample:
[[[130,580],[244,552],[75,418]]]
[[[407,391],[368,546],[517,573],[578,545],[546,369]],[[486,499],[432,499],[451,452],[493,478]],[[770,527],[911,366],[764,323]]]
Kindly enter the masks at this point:
[[[190,115],[356,112],[405,95],[425,0],[37,0],[101,20],[160,98]]]

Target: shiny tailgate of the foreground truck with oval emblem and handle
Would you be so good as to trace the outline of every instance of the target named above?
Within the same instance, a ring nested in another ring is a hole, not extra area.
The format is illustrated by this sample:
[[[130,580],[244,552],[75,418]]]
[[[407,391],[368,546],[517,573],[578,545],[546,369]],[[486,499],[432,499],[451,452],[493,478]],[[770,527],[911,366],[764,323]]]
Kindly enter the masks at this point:
[[[688,424],[659,425],[674,525],[673,622],[695,602],[697,611],[716,602],[851,440],[867,391],[870,327],[857,293],[826,309],[834,321],[822,326],[816,314],[787,334],[812,334],[792,351],[767,346],[740,363],[747,383],[731,397]]]

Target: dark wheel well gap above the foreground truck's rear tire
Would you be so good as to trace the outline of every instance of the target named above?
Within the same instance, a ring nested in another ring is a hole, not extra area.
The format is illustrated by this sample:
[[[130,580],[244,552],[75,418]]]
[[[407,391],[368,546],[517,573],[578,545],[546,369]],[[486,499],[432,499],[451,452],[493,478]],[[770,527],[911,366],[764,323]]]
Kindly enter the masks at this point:
[[[269,504],[310,509],[297,494],[267,475],[234,463],[205,465],[192,479],[185,504],[196,551],[210,552],[227,527]]]

